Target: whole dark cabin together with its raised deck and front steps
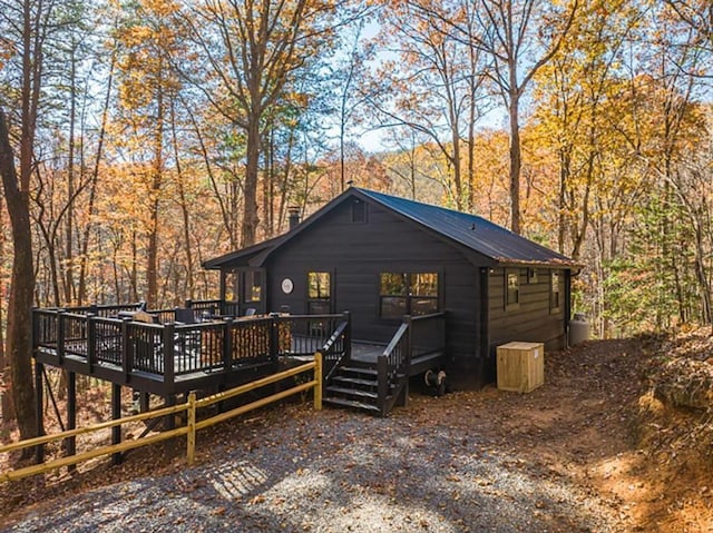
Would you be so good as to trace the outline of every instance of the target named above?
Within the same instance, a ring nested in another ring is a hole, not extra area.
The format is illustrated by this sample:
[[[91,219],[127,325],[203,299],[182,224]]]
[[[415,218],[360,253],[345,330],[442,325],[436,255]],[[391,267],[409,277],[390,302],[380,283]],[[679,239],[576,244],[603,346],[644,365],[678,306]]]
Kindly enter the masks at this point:
[[[204,263],[218,299],[33,309],[39,434],[46,365],[67,373],[69,427],[78,374],[113,384],[118,417],[123,387],[145,411],[152,395],[173,405],[316,353],[325,403],[387,416],[417,378],[439,392],[492,382],[504,343],[566,344],[578,266],[481,217],[351,187],[290,223]]]

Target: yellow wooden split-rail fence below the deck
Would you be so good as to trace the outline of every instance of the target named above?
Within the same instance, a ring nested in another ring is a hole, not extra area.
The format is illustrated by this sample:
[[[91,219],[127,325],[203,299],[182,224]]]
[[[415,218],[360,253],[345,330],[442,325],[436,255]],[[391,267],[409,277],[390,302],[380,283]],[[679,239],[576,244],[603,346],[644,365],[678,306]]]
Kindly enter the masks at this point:
[[[201,407],[206,407],[208,405],[213,405],[215,403],[223,402],[225,399],[233,398],[235,396],[240,396],[241,394],[255,391],[257,388],[264,387],[266,385],[271,385],[273,383],[277,383],[287,377],[296,376],[299,374],[303,374],[309,371],[314,371],[314,377],[310,382],[295,385],[294,387],[287,388],[285,391],[273,394],[271,396],[266,396],[255,402],[251,402],[250,404],[242,405],[228,412],[219,413],[215,416],[212,416],[211,418],[196,421],[196,411]],[[126,441],[120,444],[102,446],[102,447],[91,450],[89,452],[84,452],[77,455],[69,455],[67,457],[60,457],[57,460],[48,461],[47,463],[26,466],[22,468],[10,471],[10,472],[0,473],[0,483],[7,482],[7,481],[21,480],[23,477],[29,477],[31,475],[37,475],[37,474],[45,474],[52,470],[59,468],[61,466],[74,465],[77,463],[81,463],[84,461],[89,461],[91,458],[99,457],[101,455],[111,455],[119,452],[126,452],[128,450],[146,446],[149,444],[166,441],[168,438],[177,437],[180,435],[187,435],[186,457],[187,457],[188,465],[192,465],[195,462],[196,432],[198,430],[204,430],[205,427],[209,427],[219,422],[226,421],[234,416],[242,415],[250,411],[256,409],[258,407],[263,407],[271,403],[277,402],[280,399],[286,398],[289,396],[292,396],[294,394],[297,394],[304,391],[309,391],[311,388],[314,388],[314,408],[319,411],[322,408],[322,354],[319,352],[314,354],[314,361],[311,363],[305,363],[304,365],[290,368],[279,374],[273,374],[267,377],[263,377],[262,379],[246,383],[245,385],[241,385],[240,387],[232,388],[223,393],[214,394],[212,396],[207,396],[202,399],[196,399],[195,392],[192,392],[188,394],[188,401],[185,404],[164,407],[160,409],[150,411],[148,413],[126,416],[124,418],[117,418],[110,422],[102,422],[99,424],[92,424],[87,427],[78,427],[76,430],[69,430],[61,433],[56,433],[53,435],[43,435],[40,437],[28,438],[27,441],[20,441],[17,443],[0,446],[0,453],[8,453],[17,450],[23,450],[28,447],[33,447],[33,446],[56,442],[56,441],[62,441],[68,437],[86,435],[88,433],[107,430],[109,427],[115,427],[121,424],[128,424],[130,422],[146,421],[150,418],[157,418],[159,416],[175,415],[184,411],[186,412],[187,423],[183,427],[162,432],[156,435],[149,435],[143,438]]]

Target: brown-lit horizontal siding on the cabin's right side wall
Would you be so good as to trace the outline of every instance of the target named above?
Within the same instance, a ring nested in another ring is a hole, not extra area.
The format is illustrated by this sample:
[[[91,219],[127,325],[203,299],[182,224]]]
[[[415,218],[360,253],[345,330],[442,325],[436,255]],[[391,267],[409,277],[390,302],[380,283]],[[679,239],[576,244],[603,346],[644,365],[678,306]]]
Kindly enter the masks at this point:
[[[545,349],[559,349],[564,344],[565,305],[550,310],[550,270],[538,269],[537,282],[528,279],[527,268],[519,273],[519,304],[506,310],[505,276],[511,268],[491,268],[489,284],[489,324],[491,355],[495,346],[510,340],[545,343]],[[560,270],[560,302],[565,298],[565,272]]]

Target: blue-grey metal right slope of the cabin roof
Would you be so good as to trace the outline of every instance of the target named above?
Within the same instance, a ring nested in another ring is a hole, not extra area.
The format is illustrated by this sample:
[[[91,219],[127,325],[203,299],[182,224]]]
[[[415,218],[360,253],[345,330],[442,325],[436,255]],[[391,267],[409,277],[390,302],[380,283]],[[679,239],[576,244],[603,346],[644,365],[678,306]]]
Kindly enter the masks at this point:
[[[477,215],[389,196],[359,193],[422,226],[498,263],[576,266],[576,261]]]

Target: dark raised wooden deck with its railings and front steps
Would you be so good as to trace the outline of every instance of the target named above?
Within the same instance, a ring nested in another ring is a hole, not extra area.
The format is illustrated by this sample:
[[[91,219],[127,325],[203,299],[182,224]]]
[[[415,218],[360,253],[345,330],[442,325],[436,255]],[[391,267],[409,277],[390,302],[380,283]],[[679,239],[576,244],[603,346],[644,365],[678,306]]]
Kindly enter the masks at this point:
[[[35,309],[33,357],[38,365],[72,376],[168,401],[263,377],[320,352],[326,392],[341,394],[343,383],[351,383],[353,395],[373,399],[369,408],[384,416],[398,397],[408,395],[410,376],[445,365],[445,313],[406,316],[383,345],[353,342],[349,313],[233,317],[216,314],[227,308],[224,304],[212,302],[212,312],[204,304],[148,312],[126,305]],[[354,372],[359,377],[349,376]],[[339,379],[342,386],[330,387]],[[373,391],[360,392],[363,385]],[[344,403],[336,396],[332,401]]]

